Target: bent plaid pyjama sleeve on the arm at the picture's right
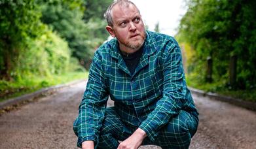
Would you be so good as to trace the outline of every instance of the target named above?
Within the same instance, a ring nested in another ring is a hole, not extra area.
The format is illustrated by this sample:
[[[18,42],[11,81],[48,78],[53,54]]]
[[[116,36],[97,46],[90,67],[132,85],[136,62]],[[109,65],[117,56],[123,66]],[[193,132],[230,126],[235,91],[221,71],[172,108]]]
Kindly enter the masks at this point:
[[[181,51],[176,41],[168,42],[165,48],[167,49],[162,59],[164,74],[162,98],[157,101],[153,112],[139,125],[151,141],[155,141],[158,130],[179,113],[185,99],[183,88],[186,88],[186,84]]]

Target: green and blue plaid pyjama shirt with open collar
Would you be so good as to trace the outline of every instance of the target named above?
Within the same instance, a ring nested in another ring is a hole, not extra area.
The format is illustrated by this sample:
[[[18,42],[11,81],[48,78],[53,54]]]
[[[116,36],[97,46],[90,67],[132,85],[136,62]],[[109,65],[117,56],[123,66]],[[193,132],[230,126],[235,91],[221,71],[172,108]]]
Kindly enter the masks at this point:
[[[175,39],[147,31],[142,48],[134,74],[120,55],[117,39],[96,50],[79,106],[79,144],[87,140],[98,142],[109,96],[115,101],[122,122],[143,129],[151,141],[180,110],[198,115]]]

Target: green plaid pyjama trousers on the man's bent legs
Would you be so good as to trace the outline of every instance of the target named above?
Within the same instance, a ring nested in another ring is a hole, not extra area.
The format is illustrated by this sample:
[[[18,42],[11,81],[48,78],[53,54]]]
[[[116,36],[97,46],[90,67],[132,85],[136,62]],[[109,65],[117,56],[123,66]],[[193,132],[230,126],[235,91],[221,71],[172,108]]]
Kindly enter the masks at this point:
[[[76,135],[78,125],[79,122],[75,120],[73,129]],[[177,116],[158,131],[154,142],[146,137],[142,145],[153,144],[161,148],[189,148],[197,126],[198,117],[181,110]],[[119,141],[124,141],[130,137],[136,129],[137,127],[135,126],[124,124],[117,112],[115,112],[115,108],[109,107],[105,112],[96,148],[116,149],[119,146]]]

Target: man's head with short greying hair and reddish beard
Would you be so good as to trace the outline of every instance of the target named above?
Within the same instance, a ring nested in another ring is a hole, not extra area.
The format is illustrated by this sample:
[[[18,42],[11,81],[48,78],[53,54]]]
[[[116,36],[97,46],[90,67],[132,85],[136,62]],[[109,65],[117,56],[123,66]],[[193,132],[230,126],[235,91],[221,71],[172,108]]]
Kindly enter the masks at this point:
[[[114,1],[105,12],[107,31],[119,41],[120,50],[132,53],[145,41],[145,27],[136,5],[128,0]]]

